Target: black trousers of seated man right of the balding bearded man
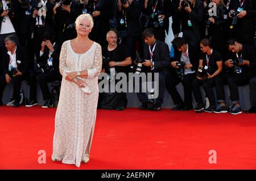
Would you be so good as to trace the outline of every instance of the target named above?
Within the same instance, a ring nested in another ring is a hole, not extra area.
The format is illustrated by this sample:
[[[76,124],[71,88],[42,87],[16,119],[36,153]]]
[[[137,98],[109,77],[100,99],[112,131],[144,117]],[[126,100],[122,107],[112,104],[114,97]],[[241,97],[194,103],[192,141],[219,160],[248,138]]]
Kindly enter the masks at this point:
[[[154,73],[152,73],[154,74]],[[161,71],[158,73],[159,75],[159,81],[158,81],[158,98],[155,99],[156,102],[163,103],[163,98],[164,98],[164,91],[166,90],[166,78],[170,75],[168,71]],[[155,79],[153,78],[152,81]],[[135,82],[134,82],[135,83]],[[139,92],[137,92],[137,96],[139,98],[139,101],[142,103],[146,103],[149,101],[147,94],[145,92],[142,92],[142,80],[139,79]]]

